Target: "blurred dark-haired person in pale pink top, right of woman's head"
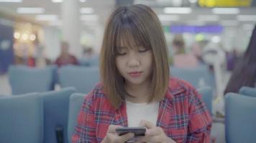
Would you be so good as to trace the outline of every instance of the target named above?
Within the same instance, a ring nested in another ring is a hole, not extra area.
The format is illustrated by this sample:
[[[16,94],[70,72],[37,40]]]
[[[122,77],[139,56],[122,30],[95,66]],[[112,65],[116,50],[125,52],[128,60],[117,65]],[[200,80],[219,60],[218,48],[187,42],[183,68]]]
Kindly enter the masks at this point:
[[[198,59],[193,53],[186,53],[183,36],[176,35],[173,39],[173,66],[178,68],[196,68]]]

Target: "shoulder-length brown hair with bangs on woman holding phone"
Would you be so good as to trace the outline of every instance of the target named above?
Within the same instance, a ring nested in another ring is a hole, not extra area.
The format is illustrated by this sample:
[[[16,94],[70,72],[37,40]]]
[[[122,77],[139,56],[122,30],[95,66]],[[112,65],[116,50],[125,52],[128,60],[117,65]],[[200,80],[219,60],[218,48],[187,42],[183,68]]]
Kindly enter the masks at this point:
[[[125,96],[131,96],[124,89],[124,78],[116,68],[116,50],[121,44],[137,48],[134,42],[152,51],[150,102],[163,99],[168,89],[168,49],[157,15],[148,6],[121,6],[109,17],[101,47],[101,81],[114,107],[118,107]]]

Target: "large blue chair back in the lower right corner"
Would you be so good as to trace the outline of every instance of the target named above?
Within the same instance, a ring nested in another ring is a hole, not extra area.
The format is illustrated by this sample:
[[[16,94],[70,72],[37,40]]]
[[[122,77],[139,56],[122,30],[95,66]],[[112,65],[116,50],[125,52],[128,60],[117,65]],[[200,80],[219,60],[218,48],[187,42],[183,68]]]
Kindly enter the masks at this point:
[[[256,141],[256,98],[228,93],[225,96],[227,143]]]

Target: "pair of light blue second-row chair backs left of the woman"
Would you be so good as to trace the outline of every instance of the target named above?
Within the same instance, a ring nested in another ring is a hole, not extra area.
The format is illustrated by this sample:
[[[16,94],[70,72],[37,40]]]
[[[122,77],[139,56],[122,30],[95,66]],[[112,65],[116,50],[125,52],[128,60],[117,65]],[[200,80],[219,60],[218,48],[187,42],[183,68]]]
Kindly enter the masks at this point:
[[[27,66],[10,66],[8,71],[12,94],[29,92],[47,92],[55,89],[55,84],[61,88],[76,87],[80,93],[91,92],[99,82],[99,68],[84,66],[47,66],[44,69]]]

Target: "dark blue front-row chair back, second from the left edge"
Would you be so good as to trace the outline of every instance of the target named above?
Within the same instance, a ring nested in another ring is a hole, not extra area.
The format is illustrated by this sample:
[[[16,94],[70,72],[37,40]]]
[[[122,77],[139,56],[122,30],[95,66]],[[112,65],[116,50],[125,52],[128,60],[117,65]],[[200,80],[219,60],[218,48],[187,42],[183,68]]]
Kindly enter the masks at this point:
[[[57,135],[68,142],[68,104],[69,97],[75,92],[73,87],[60,91],[44,92],[41,94],[44,105],[44,142],[58,142]],[[61,131],[62,130],[62,131]],[[59,134],[60,133],[60,134]]]

